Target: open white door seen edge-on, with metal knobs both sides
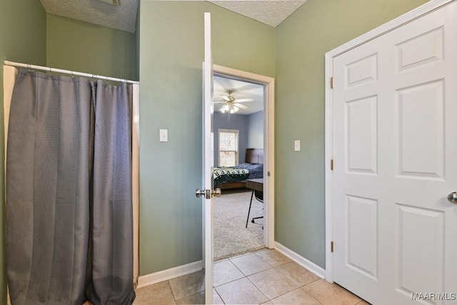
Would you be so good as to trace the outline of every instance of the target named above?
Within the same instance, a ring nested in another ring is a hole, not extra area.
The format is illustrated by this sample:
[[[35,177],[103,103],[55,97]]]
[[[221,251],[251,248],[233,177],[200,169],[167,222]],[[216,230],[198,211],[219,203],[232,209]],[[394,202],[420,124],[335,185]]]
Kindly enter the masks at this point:
[[[213,190],[213,64],[211,58],[211,14],[204,14],[205,57],[203,64],[203,160],[202,183],[204,189],[196,190],[202,198],[204,211],[204,262],[205,262],[205,303],[213,303],[213,196],[221,196],[221,189]]]

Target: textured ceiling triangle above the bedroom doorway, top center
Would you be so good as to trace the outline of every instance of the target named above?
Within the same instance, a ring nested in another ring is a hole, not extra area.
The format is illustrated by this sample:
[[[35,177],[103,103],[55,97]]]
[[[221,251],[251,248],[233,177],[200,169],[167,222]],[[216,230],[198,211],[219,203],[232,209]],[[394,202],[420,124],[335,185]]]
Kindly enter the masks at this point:
[[[208,0],[209,1],[209,0]],[[243,16],[261,21],[269,26],[278,24],[298,9],[306,0],[243,0],[243,1],[209,1]]]

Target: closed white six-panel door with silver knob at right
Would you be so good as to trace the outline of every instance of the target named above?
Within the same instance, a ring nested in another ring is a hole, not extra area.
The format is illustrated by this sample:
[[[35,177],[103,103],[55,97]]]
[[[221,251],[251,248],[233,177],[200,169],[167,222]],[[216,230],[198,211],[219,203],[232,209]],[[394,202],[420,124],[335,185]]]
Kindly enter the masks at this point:
[[[333,60],[333,279],[456,304],[457,2]]]

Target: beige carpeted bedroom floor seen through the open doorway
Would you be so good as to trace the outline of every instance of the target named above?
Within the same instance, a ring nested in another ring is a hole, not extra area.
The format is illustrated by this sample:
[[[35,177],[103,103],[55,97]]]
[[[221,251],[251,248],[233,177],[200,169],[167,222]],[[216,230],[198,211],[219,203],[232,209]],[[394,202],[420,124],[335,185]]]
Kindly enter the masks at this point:
[[[263,248],[263,204],[252,199],[251,214],[248,216],[251,190],[223,190],[222,196],[214,198],[214,261],[226,259]]]

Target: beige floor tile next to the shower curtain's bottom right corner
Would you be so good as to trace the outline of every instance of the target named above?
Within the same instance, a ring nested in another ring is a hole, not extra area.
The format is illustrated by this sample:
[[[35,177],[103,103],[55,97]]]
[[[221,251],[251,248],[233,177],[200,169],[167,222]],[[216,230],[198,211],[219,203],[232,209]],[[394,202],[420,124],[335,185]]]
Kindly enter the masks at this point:
[[[136,289],[134,305],[175,304],[169,281]]]

